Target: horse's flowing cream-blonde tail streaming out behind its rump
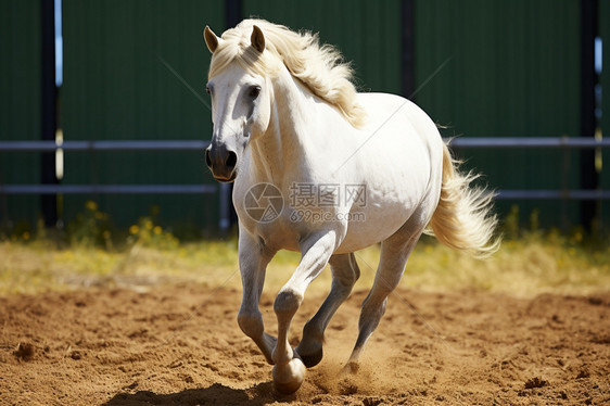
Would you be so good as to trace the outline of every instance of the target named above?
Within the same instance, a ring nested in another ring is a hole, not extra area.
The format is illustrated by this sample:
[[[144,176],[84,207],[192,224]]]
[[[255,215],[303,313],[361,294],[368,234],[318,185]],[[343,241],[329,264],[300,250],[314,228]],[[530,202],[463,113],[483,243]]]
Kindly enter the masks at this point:
[[[497,218],[492,214],[493,193],[471,182],[478,175],[461,174],[447,145],[443,144],[443,183],[439,206],[425,233],[443,244],[466,251],[474,257],[487,257],[500,245],[494,236]]]

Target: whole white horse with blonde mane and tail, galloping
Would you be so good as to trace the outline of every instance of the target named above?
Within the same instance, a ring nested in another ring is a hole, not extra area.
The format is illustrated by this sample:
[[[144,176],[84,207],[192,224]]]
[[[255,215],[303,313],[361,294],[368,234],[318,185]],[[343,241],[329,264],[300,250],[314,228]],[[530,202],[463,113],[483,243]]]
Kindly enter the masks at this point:
[[[348,65],[316,35],[245,20],[220,38],[205,27],[204,38],[213,54],[206,163],[217,180],[234,181],[239,217],[238,322],[274,365],[276,389],[292,393],[305,367],[321,360],[325,329],[358,279],[355,251],[381,242],[350,363],[379,325],[428,225],[455,249],[478,256],[497,250],[492,195],[457,172],[422,110],[397,96],[357,93]],[[258,302],[267,264],[282,249],[302,258],[274,304],[276,339],[265,332]],[[327,264],[330,293],[292,348],[291,320]]]

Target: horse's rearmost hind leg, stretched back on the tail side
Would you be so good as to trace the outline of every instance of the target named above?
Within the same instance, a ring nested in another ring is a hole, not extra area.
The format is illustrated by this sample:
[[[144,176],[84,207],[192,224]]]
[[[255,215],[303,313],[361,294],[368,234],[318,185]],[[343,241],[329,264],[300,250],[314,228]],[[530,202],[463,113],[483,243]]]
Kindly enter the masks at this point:
[[[368,339],[379,326],[385,313],[387,296],[398,286],[407,258],[421,236],[421,231],[405,236],[406,230],[399,230],[381,243],[381,258],[374,278],[374,283],[363,302],[360,319],[358,321],[358,339],[350,356],[348,367],[357,368],[358,358]]]

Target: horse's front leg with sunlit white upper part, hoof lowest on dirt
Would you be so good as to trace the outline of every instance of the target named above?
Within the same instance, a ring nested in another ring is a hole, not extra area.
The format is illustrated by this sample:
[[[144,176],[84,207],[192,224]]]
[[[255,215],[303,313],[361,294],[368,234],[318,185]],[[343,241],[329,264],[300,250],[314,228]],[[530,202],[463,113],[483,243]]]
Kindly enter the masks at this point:
[[[306,239],[302,244],[301,263],[292,278],[278,293],[274,310],[278,318],[278,342],[274,351],[274,383],[282,393],[295,392],[305,379],[305,366],[288,342],[292,318],[303,302],[305,290],[327,265],[336,237],[333,231]]]

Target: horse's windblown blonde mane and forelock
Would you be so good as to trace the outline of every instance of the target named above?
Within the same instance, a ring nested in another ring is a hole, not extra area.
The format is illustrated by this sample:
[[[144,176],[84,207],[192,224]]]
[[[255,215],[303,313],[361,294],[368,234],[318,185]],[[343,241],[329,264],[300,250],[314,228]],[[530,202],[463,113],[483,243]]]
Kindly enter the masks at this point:
[[[254,25],[265,36],[263,53],[251,45]],[[295,33],[265,20],[244,20],[234,28],[226,30],[221,38],[209,64],[209,78],[233,61],[258,74],[274,74],[279,60],[312,93],[339,109],[354,127],[364,124],[364,109],[356,102],[357,92],[352,83],[353,71],[350,64],[343,62],[341,53],[334,47],[320,46],[317,34]],[[267,53],[276,58],[269,58]]]

